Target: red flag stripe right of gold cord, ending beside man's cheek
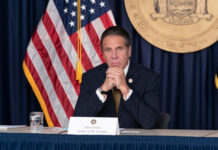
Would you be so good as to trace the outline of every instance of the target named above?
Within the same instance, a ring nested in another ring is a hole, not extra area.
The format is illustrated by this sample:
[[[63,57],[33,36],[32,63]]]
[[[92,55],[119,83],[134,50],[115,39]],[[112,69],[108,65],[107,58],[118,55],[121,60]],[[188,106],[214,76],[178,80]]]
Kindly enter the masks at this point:
[[[93,25],[91,23],[89,23],[88,25],[85,26],[85,29],[89,35],[89,38],[92,42],[93,47],[95,48],[96,53],[98,54],[99,58],[101,59],[101,62],[104,63],[105,59],[104,59],[103,52],[101,50],[100,39],[98,38],[98,35],[97,35]]]

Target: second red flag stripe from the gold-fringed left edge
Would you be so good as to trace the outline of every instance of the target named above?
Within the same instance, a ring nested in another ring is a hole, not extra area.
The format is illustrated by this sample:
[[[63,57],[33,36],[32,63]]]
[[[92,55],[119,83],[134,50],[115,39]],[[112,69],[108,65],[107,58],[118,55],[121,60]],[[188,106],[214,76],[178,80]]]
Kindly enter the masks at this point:
[[[52,65],[50,56],[46,50],[46,48],[44,47],[39,35],[37,32],[34,33],[33,35],[33,44],[36,48],[36,50],[39,53],[39,56],[41,57],[43,64],[47,70],[47,73],[49,75],[49,78],[52,82],[52,85],[54,86],[54,90],[57,94],[57,97],[59,98],[59,101],[62,104],[62,107],[67,115],[67,117],[69,118],[70,116],[73,115],[73,107],[70,103],[70,100],[68,99],[62,84],[60,83],[59,79],[58,79],[58,75],[55,72],[55,69]]]

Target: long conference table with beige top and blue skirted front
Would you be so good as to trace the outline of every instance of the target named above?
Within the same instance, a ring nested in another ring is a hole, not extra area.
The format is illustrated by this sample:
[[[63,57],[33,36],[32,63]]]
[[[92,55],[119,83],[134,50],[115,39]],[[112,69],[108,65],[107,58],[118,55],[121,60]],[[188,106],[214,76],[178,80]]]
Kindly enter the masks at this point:
[[[120,135],[68,135],[63,128],[0,130],[0,150],[216,150],[218,130],[121,129]]]

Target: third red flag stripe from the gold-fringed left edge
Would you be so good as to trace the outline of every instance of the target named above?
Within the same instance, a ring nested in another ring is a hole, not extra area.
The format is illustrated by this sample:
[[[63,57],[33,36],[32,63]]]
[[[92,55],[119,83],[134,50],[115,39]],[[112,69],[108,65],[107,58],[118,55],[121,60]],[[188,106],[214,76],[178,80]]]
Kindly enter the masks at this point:
[[[43,21],[43,24],[44,24],[46,30],[48,31],[48,34],[49,34],[49,36],[50,36],[50,38],[55,46],[56,52],[61,60],[62,65],[64,66],[64,69],[65,69],[71,83],[73,84],[73,87],[74,87],[77,95],[79,95],[80,84],[75,80],[75,78],[76,78],[75,69],[73,68],[73,66],[69,60],[69,57],[67,56],[67,54],[66,54],[66,52],[61,44],[60,38],[56,32],[54,24],[52,23],[51,18],[49,17],[47,12],[45,12],[42,21]]]

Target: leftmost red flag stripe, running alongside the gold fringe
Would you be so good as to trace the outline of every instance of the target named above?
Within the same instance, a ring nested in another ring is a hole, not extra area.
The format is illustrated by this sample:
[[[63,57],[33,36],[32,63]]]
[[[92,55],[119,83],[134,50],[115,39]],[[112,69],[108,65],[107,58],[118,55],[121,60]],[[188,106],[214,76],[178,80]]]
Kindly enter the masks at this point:
[[[46,105],[47,110],[48,110],[48,114],[51,118],[53,125],[60,127],[61,125],[57,119],[57,116],[54,113],[54,110],[53,110],[52,105],[49,101],[49,97],[48,97],[48,94],[45,90],[45,87],[44,87],[44,85],[39,77],[38,72],[36,71],[36,68],[34,67],[31,59],[29,58],[28,53],[26,53],[26,56],[25,56],[25,63],[29,69],[29,72],[31,73],[31,75],[33,77],[33,80],[35,81],[35,84],[37,85],[39,91],[41,92],[41,95],[43,97],[43,100],[44,100],[45,105]]]

